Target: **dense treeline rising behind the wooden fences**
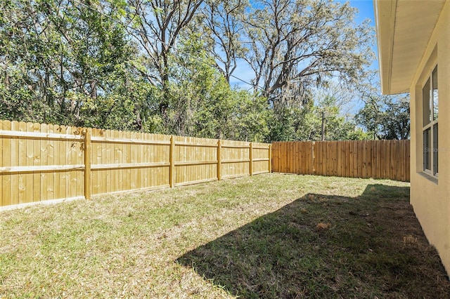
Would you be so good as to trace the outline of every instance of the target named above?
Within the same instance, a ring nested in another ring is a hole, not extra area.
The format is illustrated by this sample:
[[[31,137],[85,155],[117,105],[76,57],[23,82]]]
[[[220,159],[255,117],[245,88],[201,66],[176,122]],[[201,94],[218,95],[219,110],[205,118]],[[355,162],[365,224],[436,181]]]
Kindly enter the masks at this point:
[[[408,138],[406,110],[407,133],[380,121],[401,101],[361,83],[373,29],[355,13],[309,0],[4,0],[0,119],[254,141]],[[231,84],[238,65],[252,72],[247,90]],[[364,113],[343,117],[358,86]]]

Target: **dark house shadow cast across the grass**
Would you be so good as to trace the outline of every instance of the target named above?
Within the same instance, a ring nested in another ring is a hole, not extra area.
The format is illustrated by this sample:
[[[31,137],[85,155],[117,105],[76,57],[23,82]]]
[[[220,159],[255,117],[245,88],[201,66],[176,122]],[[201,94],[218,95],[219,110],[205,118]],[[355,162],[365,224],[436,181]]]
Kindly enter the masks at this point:
[[[307,194],[176,260],[243,298],[446,298],[409,187]]]

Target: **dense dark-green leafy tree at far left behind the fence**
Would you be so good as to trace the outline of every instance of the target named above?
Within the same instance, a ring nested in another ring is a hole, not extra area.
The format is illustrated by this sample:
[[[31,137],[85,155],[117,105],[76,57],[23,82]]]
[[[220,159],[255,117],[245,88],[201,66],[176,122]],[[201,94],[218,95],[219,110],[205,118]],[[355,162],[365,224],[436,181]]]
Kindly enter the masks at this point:
[[[86,103],[113,88],[131,55],[123,27],[111,20],[120,10],[107,1],[88,4],[2,2],[0,102],[7,118],[82,126]]]

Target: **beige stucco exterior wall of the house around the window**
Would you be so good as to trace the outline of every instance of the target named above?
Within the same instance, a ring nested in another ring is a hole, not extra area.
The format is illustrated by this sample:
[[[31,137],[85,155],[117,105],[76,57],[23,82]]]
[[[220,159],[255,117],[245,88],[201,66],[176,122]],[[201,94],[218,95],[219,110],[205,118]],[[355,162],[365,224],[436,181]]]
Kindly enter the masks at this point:
[[[450,274],[450,1],[446,1],[414,75],[411,92],[411,204]],[[439,174],[423,173],[422,88],[438,66]]]

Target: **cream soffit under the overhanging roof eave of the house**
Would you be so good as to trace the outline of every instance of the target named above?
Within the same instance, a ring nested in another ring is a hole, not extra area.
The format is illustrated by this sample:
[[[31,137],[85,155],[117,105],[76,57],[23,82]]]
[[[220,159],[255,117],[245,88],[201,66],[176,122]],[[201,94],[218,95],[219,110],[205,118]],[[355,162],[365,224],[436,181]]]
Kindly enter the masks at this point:
[[[444,4],[445,0],[375,0],[384,94],[409,91]]]

